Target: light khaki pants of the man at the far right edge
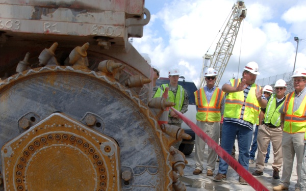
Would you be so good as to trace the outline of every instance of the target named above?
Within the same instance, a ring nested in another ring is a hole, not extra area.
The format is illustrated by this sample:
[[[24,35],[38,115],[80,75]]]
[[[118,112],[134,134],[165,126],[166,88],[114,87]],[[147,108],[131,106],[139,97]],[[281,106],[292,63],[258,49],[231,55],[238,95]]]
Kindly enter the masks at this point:
[[[293,168],[294,155],[296,155],[297,182],[295,184],[295,187],[299,188],[303,152],[304,152],[304,133],[289,134],[287,132],[283,132],[282,148],[283,148],[284,166],[283,166],[283,175],[281,182],[285,187],[289,187],[292,168]]]

